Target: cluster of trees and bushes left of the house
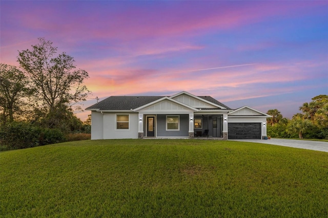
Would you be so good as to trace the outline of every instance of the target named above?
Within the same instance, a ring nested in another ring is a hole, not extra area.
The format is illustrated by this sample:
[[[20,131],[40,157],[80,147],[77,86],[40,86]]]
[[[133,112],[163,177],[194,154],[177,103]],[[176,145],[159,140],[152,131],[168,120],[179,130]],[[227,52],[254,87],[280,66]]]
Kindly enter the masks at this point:
[[[90,133],[89,123],[73,113],[90,94],[84,85],[89,75],[76,68],[72,56],[57,53],[51,41],[38,38],[31,49],[18,51],[19,67],[0,63],[2,147],[22,142],[31,147],[64,141],[69,133]]]

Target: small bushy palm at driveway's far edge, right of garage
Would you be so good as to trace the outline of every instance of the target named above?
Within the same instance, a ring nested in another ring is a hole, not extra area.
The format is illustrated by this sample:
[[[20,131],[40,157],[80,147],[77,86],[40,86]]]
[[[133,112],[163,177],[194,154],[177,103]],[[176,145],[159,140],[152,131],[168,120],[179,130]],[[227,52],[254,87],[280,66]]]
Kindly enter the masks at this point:
[[[300,115],[294,115],[293,119],[288,123],[287,132],[289,134],[298,134],[298,138],[302,139],[303,134],[309,131],[312,125],[309,119],[304,119]]]

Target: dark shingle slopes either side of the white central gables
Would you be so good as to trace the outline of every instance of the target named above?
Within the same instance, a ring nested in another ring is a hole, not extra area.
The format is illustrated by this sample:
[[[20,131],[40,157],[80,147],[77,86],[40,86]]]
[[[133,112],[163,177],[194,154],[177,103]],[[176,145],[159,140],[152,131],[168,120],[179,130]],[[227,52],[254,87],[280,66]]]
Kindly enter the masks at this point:
[[[101,111],[109,110],[109,111],[116,111],[116,110],[131,110],[142,105],[151,103],[158,99],[161,99],[166,96],[111,96],[98,103],[91,105],[86,108],[86,110],[90,109],[98,109]],[[168,96],[169,97],[169,96]],[[227,105],[222,104],[221,102],[215,100],[211,96],[198,96],[204,100],[210,101],[222,107],[226,107],[228,110],[231,110],[230,107]]]

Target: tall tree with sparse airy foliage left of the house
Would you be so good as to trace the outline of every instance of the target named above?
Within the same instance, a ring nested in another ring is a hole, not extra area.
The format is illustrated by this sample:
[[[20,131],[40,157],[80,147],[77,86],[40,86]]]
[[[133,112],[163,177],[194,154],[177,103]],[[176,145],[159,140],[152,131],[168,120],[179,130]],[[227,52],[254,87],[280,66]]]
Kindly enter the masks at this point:
[[[52,46],[51,41],[44,38],[38,40],[39,43],[32,46],[32,50],[19,52],[17,61],[36,90],[35,107],[44,111],[48,126],[55,127],[65,120],[60,117],[63,111],[86,100],[90,92],[83,83],[89,75],[85,70],[77,70],[73,57],[65,52],[56,56],[57,48]]]

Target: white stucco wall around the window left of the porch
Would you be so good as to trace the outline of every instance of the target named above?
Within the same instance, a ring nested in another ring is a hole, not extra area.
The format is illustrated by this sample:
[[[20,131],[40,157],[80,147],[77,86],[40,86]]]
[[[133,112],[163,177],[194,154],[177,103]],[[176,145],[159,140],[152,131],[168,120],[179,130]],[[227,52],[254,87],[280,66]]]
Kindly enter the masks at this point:
[[[125,113],[122,113],[125,114]],[[138,114],[130,114],[130,128],[116,129],[116,114],[104,113],[103,117],[103,136],[104,139],[137,139],[138,138]]]

